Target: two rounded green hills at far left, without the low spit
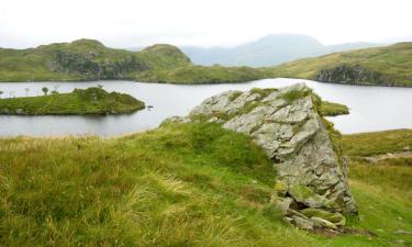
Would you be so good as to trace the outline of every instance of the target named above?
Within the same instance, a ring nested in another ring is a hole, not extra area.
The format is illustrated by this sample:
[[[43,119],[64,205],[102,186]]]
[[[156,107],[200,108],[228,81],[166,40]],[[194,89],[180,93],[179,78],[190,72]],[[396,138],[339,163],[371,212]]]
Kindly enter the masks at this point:
[[[0,49],[0,81],[134,79],[142,71],[190,64],[170,45],[132,53],[108,48],[98,41],[79,40],[29,49]]]

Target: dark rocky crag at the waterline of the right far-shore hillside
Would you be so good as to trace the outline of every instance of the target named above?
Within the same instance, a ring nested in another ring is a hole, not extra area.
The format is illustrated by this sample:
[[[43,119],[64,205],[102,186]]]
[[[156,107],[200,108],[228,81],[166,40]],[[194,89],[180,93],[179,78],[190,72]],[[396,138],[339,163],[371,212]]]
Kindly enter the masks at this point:
[[[330,69],[322,69],[318,72],[314,80],[336,83],[356,83],[356,85],[385,85],[391,86],[390,80],[377,71],[371,71],[360,65],[349,66],[339,65]]]

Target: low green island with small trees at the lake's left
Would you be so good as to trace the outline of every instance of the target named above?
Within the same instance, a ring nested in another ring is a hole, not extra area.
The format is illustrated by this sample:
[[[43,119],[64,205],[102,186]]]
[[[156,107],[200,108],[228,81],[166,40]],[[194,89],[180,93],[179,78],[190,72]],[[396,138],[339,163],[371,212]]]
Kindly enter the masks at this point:
[[[123,114],[145,108],[132,96],[108,92],[101,87],[75,89],[70,93],[53,91],[44,96],[0,99],[1,115],[86,115]]]

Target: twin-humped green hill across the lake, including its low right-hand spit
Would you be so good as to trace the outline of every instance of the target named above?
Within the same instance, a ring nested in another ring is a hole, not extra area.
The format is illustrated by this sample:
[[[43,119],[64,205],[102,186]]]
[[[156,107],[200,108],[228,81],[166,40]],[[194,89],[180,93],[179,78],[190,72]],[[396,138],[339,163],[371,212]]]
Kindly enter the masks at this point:
[[[129,79],[147,82],[215,83],[263,78],[248,67],[194,66],[177,47],[158,44],[141,52],[79,40],[30,49],[0,49],[0,81]]]

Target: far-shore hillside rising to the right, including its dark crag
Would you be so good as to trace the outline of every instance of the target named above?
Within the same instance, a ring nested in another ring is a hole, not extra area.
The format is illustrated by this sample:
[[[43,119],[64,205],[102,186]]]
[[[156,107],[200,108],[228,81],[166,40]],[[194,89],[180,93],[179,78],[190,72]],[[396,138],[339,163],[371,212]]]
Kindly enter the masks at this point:
[[[271,77],[326,82],[412,86],[412,43],[334,53],[265,68]]]

